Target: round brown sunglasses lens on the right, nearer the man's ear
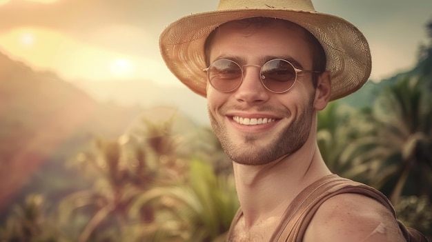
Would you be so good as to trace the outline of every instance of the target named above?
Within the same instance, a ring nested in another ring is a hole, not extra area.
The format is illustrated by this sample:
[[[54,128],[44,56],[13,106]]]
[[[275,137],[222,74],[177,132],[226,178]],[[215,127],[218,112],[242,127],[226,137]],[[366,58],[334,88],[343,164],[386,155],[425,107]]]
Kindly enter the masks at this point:
[[[282,59],[273,59],[261,68],[262,83],[273,92],[286,92],[293,87],[296,72],[293,65]]]

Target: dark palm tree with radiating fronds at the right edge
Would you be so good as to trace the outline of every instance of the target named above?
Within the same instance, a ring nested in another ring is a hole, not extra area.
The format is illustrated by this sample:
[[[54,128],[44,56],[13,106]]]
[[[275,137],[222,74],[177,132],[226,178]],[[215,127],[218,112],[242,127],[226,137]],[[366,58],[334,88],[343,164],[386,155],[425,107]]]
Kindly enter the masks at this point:
[[[432,196],[432,97],[420,86],[405,77],[382,93],[371,112],[375,128],[357,145],[369,182],[393,204],[402,194]]]

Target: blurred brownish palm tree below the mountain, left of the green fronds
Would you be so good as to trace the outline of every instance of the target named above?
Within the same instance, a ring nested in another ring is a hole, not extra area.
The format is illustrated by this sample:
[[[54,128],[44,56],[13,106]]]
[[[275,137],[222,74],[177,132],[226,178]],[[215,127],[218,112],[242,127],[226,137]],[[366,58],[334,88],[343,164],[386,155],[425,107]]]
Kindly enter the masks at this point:
[[[148,143],[124,135],[114,141],[97,140],[87,152],[81,152],[76,164],[94,185],[88,190],[70,194],[59,205],[60,221],[69,231],[70,221],[76,221],[77,231],[69,235],[77,241],[119,241],[130,234],[128,210],[137,196],[150,189],[161,177],[168,177],[158,162],[150,162]],[[165,175],[162,175],[165,174]],[[139,211],[142,223],[154,220],[154,208]],[[116,239],[117,238],[117,239]],[[104,240],[105,239],[105,240]]]

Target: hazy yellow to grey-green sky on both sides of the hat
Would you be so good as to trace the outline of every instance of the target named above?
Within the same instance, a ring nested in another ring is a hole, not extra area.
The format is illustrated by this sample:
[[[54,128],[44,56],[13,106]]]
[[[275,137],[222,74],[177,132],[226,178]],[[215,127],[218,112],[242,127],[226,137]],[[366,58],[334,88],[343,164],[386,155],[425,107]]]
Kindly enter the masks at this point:
[[[64,79],[149,79],[175,84],[158,38],[179,17],[217,0],[0,0],[0,51]],[[315,0],[315,9],[351,21],[369,40],[371,78],[411,68],[432,0]]]

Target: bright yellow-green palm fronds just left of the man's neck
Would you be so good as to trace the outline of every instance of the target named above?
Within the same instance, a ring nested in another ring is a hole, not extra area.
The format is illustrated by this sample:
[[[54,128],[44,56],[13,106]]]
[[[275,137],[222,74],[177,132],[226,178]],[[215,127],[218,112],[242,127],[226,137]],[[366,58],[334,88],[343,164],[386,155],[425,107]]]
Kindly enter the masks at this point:
[[[233,176],[216,176],[204,161],[190,161],[186,183],[155,187],[136,200],[131,214],[159,201],[153,241],[223,241],[239,203]]]

